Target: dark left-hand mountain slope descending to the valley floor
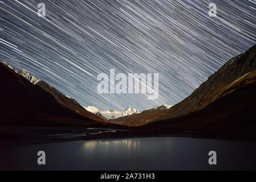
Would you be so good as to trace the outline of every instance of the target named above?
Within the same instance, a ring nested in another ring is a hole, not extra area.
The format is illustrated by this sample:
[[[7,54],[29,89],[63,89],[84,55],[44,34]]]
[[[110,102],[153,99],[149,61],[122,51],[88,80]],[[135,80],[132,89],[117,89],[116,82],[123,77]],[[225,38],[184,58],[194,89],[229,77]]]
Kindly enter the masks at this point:
[[[0,64],[0,84],[1,125],[107,125],[45,82],[33,85],[4,64]]]

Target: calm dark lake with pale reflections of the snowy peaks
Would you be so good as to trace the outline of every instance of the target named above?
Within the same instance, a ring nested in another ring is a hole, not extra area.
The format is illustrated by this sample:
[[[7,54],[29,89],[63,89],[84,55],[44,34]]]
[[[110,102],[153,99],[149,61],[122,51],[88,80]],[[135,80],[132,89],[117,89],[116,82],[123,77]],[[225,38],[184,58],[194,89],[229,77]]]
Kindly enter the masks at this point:
[[[38,165],[38,151],[46,153],[46,165]],[[216,165],[209,165],[209,151],[216,151]],[[234,140],[182,137],[77,140],[0,147],[0,169],[256,169],[255,154],[255,142]]]

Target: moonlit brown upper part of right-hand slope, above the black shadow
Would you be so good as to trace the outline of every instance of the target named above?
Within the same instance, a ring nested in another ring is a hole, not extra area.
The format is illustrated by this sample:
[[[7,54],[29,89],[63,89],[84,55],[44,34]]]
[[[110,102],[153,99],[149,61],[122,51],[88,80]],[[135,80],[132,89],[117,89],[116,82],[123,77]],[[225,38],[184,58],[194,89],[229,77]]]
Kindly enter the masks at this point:
[[[128,126],[141,126],[147,123],[181,117],[200,111],[226,94],[234,92],[238,87],[252,84],[256,69],[256,45],[245,53],[233,57],[216,73],[202,83],[199,88],[185,100],[170,107],[169,110],[153,111],[152,113],[135,114],[113,119],[110,122]]]

